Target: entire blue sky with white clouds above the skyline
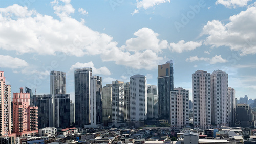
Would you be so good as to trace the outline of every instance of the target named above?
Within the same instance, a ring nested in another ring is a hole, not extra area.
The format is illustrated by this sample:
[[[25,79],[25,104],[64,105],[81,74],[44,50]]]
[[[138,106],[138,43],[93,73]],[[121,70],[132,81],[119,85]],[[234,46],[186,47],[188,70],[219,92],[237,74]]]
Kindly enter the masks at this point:
[[[174,60],[174,86],[191,93],[191,74],[229,74],[236,97],[255,99],[256,2],[250,0],[0,1],[0,70],[12,92],[49,94],[49,71],[74,68],[157,85],[158,65]],[[190,95],[191,98],[191,95]]]

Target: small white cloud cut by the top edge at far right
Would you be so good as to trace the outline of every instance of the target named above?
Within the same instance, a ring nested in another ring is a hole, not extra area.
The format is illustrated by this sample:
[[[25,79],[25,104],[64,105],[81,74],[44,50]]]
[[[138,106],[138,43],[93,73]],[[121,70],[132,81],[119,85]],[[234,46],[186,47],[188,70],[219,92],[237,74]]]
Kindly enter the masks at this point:
[[[227,8],[236,8],[236,7],[243,7],[247,6],[247,3],[251,0],[217,0],[215,2],[216,5],[222,4]]]

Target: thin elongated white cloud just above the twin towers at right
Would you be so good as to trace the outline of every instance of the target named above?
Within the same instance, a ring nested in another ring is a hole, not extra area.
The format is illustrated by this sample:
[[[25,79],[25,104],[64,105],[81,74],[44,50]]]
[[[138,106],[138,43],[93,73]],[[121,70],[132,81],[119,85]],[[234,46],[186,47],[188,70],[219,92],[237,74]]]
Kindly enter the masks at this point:
[[[215,55],[214,57],[212,57],[211,59],[210,58],[204,58],[204,57],[201,57],[201,58],[198,58],[198,56],[190,56],[189,58],[186,59],[186,61],[188,62],[193,62],[193,61],[207,61],[209,62],[210,64],[215,64],[215,63],[225,63],[227,62],[226,59],[223,59],[221,57],[221,55],[217,56]]]

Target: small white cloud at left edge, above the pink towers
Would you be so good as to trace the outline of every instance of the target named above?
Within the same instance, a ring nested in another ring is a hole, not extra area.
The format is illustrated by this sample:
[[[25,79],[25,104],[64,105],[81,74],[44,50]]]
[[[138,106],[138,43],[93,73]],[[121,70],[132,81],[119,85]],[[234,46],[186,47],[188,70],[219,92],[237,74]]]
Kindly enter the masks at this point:
[[[0,55],[0,60],[0,67],[3,68],[23,68],[29,65],[25,60],[11,56]]]

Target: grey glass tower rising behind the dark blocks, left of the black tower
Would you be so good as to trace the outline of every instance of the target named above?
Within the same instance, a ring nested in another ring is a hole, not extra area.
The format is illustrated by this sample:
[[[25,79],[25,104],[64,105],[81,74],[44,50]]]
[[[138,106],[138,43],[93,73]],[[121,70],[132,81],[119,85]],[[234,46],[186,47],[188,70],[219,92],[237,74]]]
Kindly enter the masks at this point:
[[[50,94],[52,94],[52,124],[55,127],[55,94],[66,94],[66,73],[61,71],[50,71]],[[57,127],[57,126],[56,126]]]

